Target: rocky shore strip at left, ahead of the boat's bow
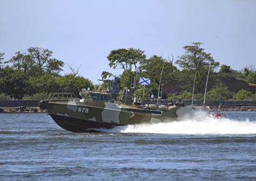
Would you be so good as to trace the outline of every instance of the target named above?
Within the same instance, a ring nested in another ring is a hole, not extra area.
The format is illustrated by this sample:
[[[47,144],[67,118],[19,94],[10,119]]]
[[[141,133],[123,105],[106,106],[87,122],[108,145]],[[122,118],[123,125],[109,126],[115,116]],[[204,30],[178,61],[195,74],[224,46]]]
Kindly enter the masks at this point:
[[[40,109],[40,107],[1,107],[0,113],[46,113],[45,110]]]

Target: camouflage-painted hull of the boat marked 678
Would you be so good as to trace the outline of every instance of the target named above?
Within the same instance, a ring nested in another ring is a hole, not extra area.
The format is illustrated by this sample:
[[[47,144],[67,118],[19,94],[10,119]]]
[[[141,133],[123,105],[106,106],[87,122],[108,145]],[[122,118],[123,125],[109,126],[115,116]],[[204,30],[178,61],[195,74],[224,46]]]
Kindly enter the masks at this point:
[[[108,102],[46,101],[54,121],[73,132],[91,132],[92,129],[140,123],[172,122],[194,112],[188,107],[173,107],[168,111],[139,109],[133,105]]]

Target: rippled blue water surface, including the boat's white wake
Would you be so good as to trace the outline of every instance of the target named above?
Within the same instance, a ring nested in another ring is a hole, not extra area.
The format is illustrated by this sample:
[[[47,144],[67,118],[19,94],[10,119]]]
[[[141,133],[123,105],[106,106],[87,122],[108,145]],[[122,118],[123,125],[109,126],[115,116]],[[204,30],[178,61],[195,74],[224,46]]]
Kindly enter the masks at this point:
[[[255,180],[256,112],[71,133],[0,114],[0,180]]]

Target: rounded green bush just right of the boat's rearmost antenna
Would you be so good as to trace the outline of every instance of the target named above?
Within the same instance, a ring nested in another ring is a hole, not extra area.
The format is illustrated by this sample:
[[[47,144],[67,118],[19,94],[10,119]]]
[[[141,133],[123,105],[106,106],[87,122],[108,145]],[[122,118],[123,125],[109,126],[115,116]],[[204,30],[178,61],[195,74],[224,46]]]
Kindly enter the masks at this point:
[[[218,83],[214,86],[212,90],[208,92],[208,96],[213,100],[228,100],[233,97],[232,92],[228,89],[228,87],[222,83]]]

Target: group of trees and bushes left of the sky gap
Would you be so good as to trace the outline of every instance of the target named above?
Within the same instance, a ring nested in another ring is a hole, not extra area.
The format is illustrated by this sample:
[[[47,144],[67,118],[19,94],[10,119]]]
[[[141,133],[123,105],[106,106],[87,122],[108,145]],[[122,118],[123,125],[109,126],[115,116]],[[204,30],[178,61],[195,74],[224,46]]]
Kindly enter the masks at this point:
[[[48,49],[30,47],[27,52],[16,52],[0,64],[0,99],[43,99],[52,92],[74,92],[94,85],[77,72],[60,75],[64,62],[52,58]],[[0,54],[0,60],[4,54]]]

